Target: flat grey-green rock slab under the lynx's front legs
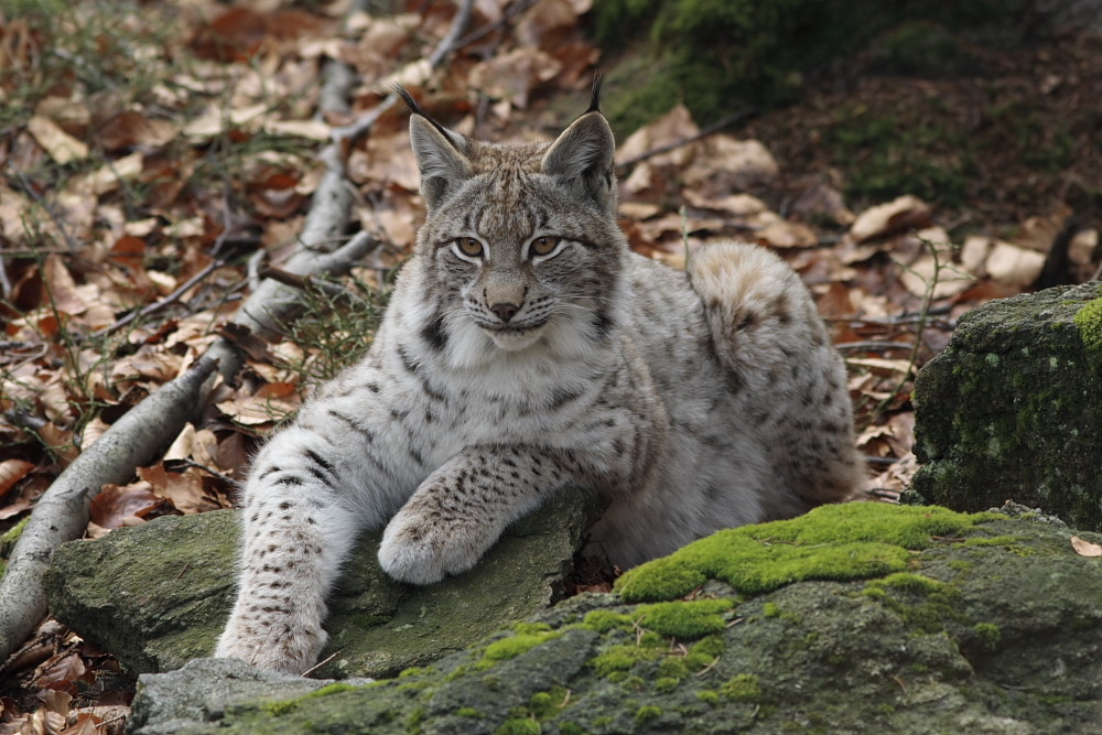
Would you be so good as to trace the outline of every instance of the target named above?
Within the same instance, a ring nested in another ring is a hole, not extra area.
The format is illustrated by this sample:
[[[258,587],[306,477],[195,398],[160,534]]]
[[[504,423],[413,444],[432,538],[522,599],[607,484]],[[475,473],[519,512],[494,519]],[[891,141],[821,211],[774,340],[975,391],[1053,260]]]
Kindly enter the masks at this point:
[[[581,493],[515,523],[469,573],[428,587],[390,580],[364,538],[329,601],[318,675],[382,677],[463,649],[563,594],[594,512]],[[51,613],[131,673],[210,656],[229,615],[238,511],[158,518],[63,544],[46,576]]]

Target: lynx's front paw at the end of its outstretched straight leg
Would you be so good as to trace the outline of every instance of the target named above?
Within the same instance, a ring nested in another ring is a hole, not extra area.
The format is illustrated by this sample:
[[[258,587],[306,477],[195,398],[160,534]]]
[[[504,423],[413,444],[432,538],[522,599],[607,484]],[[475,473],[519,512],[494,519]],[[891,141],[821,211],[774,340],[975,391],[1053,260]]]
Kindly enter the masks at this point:
[[[317,660],[325,631],[294,630],[290,626],[260,627],[231,619],[218,639],[215,656],[241,659],[264,671],[300,674]]]

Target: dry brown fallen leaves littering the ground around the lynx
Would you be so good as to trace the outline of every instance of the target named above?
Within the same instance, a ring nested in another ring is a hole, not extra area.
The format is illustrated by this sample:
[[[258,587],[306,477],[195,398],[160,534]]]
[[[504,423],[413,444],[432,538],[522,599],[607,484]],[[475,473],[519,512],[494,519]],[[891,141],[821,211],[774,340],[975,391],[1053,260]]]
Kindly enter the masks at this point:
[[[260,263],[278,268],[294,244],[331,126],[370,115],[399,80],[456,130],[545,139],[562,123],[554,100],[584,109],[601,64],[584,33],[585,0],[520,12],[479,0],[469,43],[437,71],[424,57],[447,33],[452,3],[409,3],[391,17],[347,14],[347,2],[291,4],[122,6],[118,36],[98,41],[110,53],[91,58],[77,46],[61,74],[48,66],[50,44],[87,33],[102,8],[82,4],[52,26],[0,12],[2,63],[23,80],[0,76],[0,88],[31,102],[0,140],[0,530],[26,516],[83,446],[226,333]],[[318,111],[333,60],[357,83],[346,110]],[[358,224],[386,242],[353,279],[385,289],[423,218],[403,115],[380,115],[344,153]],[[761,142],[701,138],[683,106],[627,137],[617,160],[629,162],[618,172],[620,216],[638,252],[682,268],[687,252],[738,238],[778,250],[800,272],[847,358],[869,497],[887,500],[916,468],[917,368],[944,347],[960,314],[1029,290],[1068,215],[1027,213],[1013,237],[954,240],[940,213],[907,193],[852,212],[830,172],[787,197],[785,172]],[[1096,231],[1079,233],[1070,258],[1081,280],[1098,257]],[[343,345],[366,347],[354,326],[342,334]],[[86,537],[231,507],[249,452],[316,382],[309,366],[333,359],[301,336],[250,343],[239,379],[215,388],[161,461],[101,489]],[[1094,554],[1091,547],[1077,550]],[[614,574],[591,564],[574,586],[605,590]],[[132,682],[55,621],[8,670],[0,733],[121,731]]]

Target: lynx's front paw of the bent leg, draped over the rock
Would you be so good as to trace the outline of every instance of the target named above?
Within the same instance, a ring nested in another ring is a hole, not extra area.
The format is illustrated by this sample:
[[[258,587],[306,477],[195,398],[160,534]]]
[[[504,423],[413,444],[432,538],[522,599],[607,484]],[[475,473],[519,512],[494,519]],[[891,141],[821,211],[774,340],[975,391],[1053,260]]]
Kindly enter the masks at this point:
[[[402,510],[382,534],[379,564],[399,582],[432,584],[450,574],[466,572],[488,547],[489,543],[472,539],[464,529],[442,526],[439,520]]]

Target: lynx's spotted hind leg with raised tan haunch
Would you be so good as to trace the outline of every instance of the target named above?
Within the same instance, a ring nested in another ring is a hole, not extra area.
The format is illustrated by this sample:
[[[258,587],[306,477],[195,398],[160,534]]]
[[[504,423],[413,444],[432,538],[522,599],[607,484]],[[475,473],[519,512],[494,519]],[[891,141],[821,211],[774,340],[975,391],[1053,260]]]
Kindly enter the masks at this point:
[[[800,278],[775,253],[721,242],[688,271],[728,385],[777,473],[770,518],[844,500],[863,484],[845,366]]]

